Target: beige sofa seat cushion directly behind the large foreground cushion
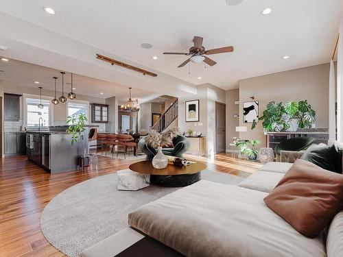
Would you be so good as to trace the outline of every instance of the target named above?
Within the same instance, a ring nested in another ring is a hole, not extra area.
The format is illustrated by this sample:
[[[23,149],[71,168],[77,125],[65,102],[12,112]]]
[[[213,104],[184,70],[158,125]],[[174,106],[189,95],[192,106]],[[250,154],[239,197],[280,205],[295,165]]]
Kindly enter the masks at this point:
[[[284,175],[278,172],[257,171],[239,183],[238,186],[270,193]]]

